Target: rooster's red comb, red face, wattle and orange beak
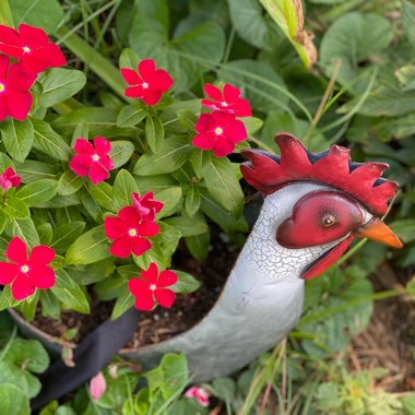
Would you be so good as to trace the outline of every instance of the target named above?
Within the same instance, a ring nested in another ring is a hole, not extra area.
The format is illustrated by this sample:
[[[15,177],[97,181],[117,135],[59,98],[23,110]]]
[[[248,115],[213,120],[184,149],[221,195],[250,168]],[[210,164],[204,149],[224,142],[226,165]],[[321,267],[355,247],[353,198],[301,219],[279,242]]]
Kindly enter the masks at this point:
[[[398,185],[381,178],[383,163],[353,163],[349,150],[333,145],[311,153],[293,135],[281,133],[275,141],[281,155],[246,150],[249,162],[241,171],[249,185],[263,197],[283,187],[306,181],[322,185],[299,197],[287,218],[276,228],[276,242],[288,249],[334,244],[303,272],[304,278],[319,275],[334,263],[355,237],[367,237],[394,248],[402,244],[379,218]]]

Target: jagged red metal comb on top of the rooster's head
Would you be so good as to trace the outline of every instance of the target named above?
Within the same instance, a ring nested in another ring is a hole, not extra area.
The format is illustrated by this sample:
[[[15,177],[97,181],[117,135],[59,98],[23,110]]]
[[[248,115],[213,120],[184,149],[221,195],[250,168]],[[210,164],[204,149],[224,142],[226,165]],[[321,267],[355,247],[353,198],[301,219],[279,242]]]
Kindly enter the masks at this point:
[[[351,151],[333,145],[323,153],[311,153],[295,137],[275,137],[281,156],[259,150],[242,152],[249,162],[240,166],[249,185],[268,195],[293,181],[318,181],[353,195],[372,213],[387,212],[388,200],[398,183],[380,176],[389,167],[386,163],[353,163]]]

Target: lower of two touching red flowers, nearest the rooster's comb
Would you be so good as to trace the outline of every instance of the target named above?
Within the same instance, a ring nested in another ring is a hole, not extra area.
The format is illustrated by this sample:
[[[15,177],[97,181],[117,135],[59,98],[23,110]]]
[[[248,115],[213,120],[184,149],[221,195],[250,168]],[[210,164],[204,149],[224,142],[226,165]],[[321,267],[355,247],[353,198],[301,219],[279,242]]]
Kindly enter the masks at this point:
[[[235,115],[213,111],[202,114],[195,124],[199,133],[192,144],[202,150],[213,150],[216,157],[225,156],[235,150],[235,144],[247,138],[242,121]]]

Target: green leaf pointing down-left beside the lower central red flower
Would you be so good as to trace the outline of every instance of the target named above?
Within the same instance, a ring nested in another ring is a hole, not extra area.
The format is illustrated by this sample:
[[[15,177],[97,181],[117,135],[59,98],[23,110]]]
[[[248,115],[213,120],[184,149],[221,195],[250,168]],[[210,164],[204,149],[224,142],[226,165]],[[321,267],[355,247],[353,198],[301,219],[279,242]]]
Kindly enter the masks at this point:
[[[109,257],[109,242],[104,226],[90,229],[80,236],[68,249],[66,263],[87,264]]]

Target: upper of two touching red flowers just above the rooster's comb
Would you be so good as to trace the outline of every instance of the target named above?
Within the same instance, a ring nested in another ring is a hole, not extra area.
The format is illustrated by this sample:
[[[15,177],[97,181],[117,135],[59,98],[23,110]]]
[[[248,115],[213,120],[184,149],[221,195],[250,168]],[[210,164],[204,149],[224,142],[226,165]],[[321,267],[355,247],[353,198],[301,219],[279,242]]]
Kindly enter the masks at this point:
[[[204,85],[204,93],[211,99],[202,99],[202,105],[211,109],[235,114],[237,117],[250,117],[251,107],[248,99],[240,97],[240,91],[230,84],[225,84],[223,93],[216,86]]]

